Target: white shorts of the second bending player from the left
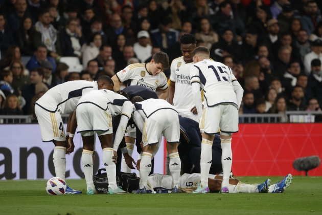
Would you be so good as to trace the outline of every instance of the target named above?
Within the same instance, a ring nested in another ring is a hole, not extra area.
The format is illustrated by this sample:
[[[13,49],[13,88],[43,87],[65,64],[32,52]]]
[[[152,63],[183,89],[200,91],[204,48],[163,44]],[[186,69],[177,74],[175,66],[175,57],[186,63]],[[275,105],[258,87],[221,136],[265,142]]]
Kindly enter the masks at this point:
[[[76,111],[78,132],[82,136],[106,135],[113,133],[112,116],[91,103],[82,103]]]

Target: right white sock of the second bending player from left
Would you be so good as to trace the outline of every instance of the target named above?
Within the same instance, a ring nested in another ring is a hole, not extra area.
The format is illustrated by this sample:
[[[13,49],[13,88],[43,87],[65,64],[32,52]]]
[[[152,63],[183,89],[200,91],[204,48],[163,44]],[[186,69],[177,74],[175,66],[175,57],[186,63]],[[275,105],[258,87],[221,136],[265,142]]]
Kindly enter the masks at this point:
[[[112,160],[113,156],[113,148],[103,148],[103,162],[107,173],[108,187],[116,190],[118,185],[116,183],[116,165]]]

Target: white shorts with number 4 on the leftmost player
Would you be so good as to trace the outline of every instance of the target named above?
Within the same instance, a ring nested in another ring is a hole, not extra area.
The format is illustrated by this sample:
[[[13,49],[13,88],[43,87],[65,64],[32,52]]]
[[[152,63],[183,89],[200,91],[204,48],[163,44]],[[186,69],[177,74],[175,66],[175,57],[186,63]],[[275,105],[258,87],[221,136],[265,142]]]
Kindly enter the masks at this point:
[[[59,112],[49,112],[35,105],[42,142],[65,141],[65,128]]]

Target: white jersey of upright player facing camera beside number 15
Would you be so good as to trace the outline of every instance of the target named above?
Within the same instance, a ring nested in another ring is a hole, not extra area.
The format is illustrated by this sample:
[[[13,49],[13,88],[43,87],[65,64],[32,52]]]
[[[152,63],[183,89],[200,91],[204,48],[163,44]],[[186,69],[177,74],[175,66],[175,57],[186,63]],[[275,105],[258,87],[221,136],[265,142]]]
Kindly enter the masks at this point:
[[[174,59],[171,63],[170,81],[175,82],[173,106],[179,112],[190,112],[195,106],[190,85],[192,66],[193,62],[186,63],[183,56]]]

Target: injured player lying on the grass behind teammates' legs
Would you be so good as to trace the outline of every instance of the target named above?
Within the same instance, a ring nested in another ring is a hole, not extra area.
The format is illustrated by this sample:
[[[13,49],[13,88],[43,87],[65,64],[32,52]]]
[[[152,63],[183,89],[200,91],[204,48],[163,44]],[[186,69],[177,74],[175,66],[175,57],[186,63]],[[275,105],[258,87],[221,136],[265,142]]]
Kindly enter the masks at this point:
[[[235,179],[231,174],[229,179],[229,192],[230,193],[264,193],[264,192],[273,192],[281,193],[289,187],[292,183],[292,175],[288,174],[281,181],[271,185],[271,180],[266,179],[265,182],[261,184],[246,184],[238,179]],[[222,176],[219,175],[209,175],[209,189],[210,192],[219,192],[221,189]],[[183,174],[179,178],[179,191],[180,192],[193,192],[197,189],[200,184],[200,174]],[[147,181],[147,192],[157,191],[165,192],[172,189],[172,177],[162,174],[152,174],[149,176]],[[159,191],[161,190],[161,191]]]

